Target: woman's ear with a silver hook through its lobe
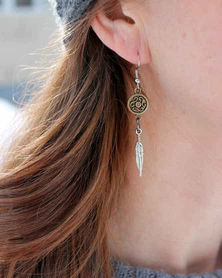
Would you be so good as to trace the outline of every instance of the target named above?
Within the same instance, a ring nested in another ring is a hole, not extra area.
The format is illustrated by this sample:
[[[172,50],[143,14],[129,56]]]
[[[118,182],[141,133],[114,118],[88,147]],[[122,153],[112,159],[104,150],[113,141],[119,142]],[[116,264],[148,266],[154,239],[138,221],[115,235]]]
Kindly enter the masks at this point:
[[[112,14],[100,9],[93,18],[91,26],[100,40],[119,56],[137,64],[139,54],[140,64],[144,64],[150,61],[148,43],[141,35],[145,33],[141,31],[142,19],[138,11],[133,14],[134,9],[129,8],[129,2],[127,1],[125,6],[120,2]]]

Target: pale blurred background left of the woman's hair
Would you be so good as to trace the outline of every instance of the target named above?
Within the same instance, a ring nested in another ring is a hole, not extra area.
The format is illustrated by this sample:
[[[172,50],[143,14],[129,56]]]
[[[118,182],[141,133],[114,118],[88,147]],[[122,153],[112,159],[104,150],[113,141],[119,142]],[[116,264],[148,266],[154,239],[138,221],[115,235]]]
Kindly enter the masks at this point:
[[[40,58],[55,29],[47,0],[0,0],[0,134],[10,124],[30,73],[25,68]]]

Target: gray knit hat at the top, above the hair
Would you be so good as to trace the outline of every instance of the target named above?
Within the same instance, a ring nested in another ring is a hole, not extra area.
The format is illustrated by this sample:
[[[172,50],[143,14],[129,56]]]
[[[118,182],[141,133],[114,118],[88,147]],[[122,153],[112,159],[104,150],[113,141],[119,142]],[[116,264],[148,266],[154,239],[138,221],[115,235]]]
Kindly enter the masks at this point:
[[[93,0],[48,0],[53,8],[56,23],[62,27],[76,22]]]

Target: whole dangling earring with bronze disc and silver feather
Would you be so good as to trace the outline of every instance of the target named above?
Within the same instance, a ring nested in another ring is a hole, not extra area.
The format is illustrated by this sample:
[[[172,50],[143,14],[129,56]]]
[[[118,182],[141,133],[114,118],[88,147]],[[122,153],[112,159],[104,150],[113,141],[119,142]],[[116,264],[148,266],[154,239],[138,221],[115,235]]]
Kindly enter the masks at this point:
[[[148,107],[148,100],[144,94],[141,94],[141,89],[139,88],[139,78],[138,78],[138,68],[139,68],[139,55],[138,55],[138,66],[135,69],[135,82],[136,87],[134,88],[134,93],[128,98],[127,106],[131,113],[135,114],[136,119],[136,129],[135,133],[137,135],[137,141],[135,144],[135,161],[138,167],[139,175],[142,175],[142,162],[143,162],[143,147],[140,142],[140,134],[142,129],[140,128],[141,113],[145,112]]]

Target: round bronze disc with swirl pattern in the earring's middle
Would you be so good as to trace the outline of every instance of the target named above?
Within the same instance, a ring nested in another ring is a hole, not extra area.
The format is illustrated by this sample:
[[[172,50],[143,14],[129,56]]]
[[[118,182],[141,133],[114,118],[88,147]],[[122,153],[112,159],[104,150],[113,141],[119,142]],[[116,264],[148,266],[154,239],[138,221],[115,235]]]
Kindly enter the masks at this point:
[[[140,88],[135,87],[134,92],[135,93],[128,98],[127,106],[130,112],[139,115],[147,109],[148,100],[145,95],[140,93]]]

